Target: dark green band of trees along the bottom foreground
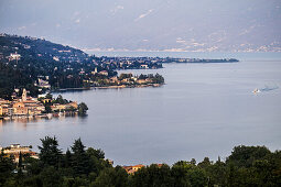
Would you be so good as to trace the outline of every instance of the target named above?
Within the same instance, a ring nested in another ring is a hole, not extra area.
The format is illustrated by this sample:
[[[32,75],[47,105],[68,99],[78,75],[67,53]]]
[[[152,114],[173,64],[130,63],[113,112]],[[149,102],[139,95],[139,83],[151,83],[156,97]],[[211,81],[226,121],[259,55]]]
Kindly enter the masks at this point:
[[[281,186],[281,152],[264,146],[236,146],[225,162],[208,157],[196,164],[152,164],[128,175],[111,166],[101,150],[75,140],[65,154],[56,138],[41,139],[40,158],[21,156],[18,165],[0,154],[0,186],[188,187]]]

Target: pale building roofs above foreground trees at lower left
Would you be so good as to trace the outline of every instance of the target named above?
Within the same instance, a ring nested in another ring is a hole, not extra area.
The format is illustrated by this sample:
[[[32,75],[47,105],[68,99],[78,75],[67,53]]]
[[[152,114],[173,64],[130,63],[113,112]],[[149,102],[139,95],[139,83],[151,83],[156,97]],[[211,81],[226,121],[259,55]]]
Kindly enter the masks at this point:
[[[7,156],[12,157],[13,162],[19,163],[20,154],[29,154],[33,158],[39,158],[37,153],[31,150],[31,146],[21,146],[20,144],[11,144],[7,147],[0,146],[0,153],[4,153]]]

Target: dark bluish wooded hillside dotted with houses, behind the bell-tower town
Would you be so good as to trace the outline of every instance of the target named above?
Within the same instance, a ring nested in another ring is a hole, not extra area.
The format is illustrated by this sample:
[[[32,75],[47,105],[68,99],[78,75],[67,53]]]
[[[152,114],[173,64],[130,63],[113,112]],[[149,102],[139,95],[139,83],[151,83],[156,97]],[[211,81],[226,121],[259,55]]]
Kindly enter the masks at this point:
[[[31,95],[41,89],[36,81],[48,81],[52,89],[80,88],[84,79],[97,67],[116,75],[110,67],[101,67],[100,58],[80,50],[52,42],[17,35],[0,35],[0,98],[11,96],[14,88],[29,88]]]

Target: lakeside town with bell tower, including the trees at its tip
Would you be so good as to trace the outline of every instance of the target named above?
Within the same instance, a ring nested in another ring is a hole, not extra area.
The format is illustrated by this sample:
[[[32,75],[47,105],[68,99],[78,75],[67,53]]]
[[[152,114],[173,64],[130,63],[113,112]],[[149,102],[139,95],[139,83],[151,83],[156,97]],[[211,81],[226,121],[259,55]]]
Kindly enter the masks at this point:
[[[22,92],[21,96],[20,92]],[[77,103],[64,99],[61,95],[53,98],[51,94],[39,95],[37,98],[28,96],[25,88],[15,89],[11,100],[0,98],[0,119],[37,119],[62,116],[86,116],[86,103]]]

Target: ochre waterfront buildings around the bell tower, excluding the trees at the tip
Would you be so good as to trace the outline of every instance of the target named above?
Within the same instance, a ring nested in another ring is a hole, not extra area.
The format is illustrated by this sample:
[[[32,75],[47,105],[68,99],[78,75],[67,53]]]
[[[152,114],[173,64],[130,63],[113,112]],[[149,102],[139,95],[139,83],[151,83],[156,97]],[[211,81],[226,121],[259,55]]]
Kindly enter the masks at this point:
[[[13,100],[4,100],[0,98],[0,117],[4,118],[19,118],[19,117],[35,117],[41,116],[45,112],[44,103],[52,103],[52,99],[43,99],[42,101],[37,98],[28,97],[28,91],[23,89],[22,96],[17,98],[13,96]],[[52,112],[66,111],[77,109],[77,102],[68,102],[65,105],[52,103]]]

